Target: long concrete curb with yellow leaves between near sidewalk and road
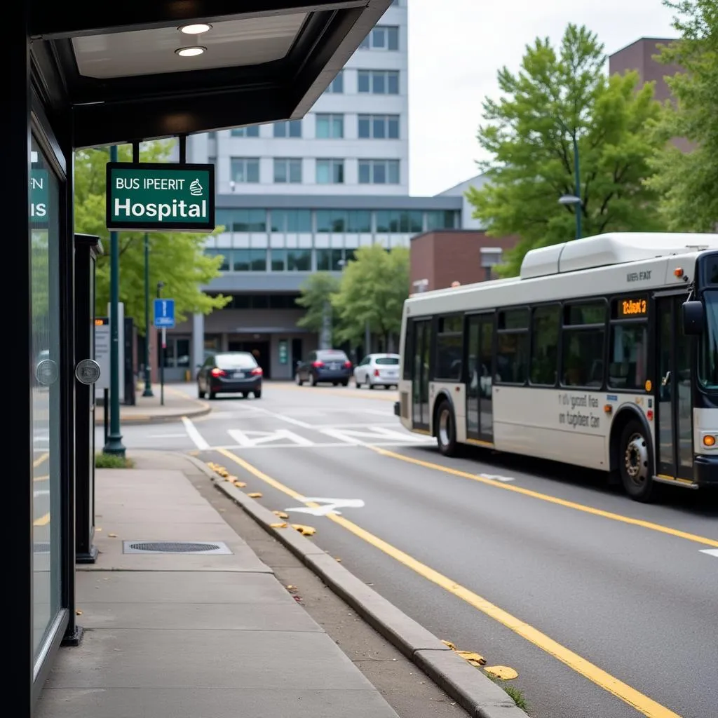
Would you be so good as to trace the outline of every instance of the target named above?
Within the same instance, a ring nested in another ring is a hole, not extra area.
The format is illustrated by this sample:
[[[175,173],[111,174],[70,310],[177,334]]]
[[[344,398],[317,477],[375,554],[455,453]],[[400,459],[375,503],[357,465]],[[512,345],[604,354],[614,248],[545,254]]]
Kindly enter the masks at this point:
[[[289,551],[328,587],[348,603],[386,640],[419,666],[474,718],[528,718],[506,692],[483,673],[470,666],[433,633],[354,574],[337,563],[326,551],[292,528],[272,528],[279,519],[256,500],[249,498],[231,482],[220,480],[207,465],[195,457],[185,457],[215,485],[249,514],[267,533],[281,541]]]

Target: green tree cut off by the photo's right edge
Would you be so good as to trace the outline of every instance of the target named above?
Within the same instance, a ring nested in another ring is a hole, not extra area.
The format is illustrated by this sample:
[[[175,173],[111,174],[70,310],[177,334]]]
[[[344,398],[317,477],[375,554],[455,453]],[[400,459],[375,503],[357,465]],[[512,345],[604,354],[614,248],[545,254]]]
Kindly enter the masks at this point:
[[[664,144],[653,159],[648,186],[661,194],[660,210],[670,230],[714,232],[718,223],[718,8],[715,0],[664,2],[678,15],[681,38],[663,47],[658,59],[684,73],[666,78],[676,103],[656,123]],[[694,144],[682,152],[669,140]]]

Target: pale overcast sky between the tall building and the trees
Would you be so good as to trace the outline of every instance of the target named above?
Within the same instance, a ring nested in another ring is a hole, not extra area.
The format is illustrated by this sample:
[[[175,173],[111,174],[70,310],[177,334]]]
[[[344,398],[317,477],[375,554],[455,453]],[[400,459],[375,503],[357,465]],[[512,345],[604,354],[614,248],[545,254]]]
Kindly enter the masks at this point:
[[[675,37],[661,0],[407,0],[412,195],[477,174],[476,141],[496,73],[518,70],[536,36],[556,43],[569,22],[598,34],[607,54],[639,37]]]

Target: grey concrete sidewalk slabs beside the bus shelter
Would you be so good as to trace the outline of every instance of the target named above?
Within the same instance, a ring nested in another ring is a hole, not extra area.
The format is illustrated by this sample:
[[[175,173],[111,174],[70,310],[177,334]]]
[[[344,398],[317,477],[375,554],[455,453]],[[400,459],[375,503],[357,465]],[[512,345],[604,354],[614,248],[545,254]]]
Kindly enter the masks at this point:
[[[60,651],[37,718],[396,718],[197,492],[196,465],[162,453],[138,466],[96,473],[100,555],[77,574],[85,635]],[[125,553],[127,541],[227,552]]]

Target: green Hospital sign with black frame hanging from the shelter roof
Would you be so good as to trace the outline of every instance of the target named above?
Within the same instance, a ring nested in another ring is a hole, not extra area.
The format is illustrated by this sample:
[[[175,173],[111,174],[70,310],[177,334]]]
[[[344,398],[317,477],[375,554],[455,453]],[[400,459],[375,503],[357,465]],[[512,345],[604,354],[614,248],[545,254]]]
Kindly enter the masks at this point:
[[[215,166],[108,162],[106,218],[112,230],[211,232]]]

